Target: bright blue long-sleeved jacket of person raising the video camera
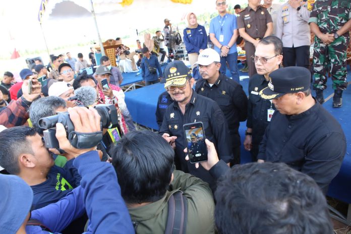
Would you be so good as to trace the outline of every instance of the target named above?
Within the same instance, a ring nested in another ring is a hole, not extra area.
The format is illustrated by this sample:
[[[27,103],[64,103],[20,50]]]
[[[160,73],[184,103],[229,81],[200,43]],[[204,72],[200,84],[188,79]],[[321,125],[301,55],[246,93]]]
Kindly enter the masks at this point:
[[[57,233],[86,211],[89,223],[84,233],[134,233],[112,165],[101,162],[97,151],[90,151],[77,157],[74,166],[82,175],[81,185],[60,201],[32,211],[31,218]],[[49,233],[30,225],[26,232]]]

